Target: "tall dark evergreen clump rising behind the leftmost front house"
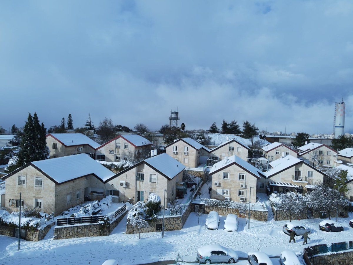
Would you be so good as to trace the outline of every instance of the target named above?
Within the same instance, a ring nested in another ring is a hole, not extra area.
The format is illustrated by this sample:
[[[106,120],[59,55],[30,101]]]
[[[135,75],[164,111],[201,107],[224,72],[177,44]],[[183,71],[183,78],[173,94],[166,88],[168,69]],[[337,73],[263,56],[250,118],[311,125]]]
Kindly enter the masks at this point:
[[[49,158],[49,148],[46,142],[46,128],[44,123],[39,124],[37,113],[33,117],[29,113],[28,120],[23,128],[22,142],[18,152],[19,165],[31,161]]]

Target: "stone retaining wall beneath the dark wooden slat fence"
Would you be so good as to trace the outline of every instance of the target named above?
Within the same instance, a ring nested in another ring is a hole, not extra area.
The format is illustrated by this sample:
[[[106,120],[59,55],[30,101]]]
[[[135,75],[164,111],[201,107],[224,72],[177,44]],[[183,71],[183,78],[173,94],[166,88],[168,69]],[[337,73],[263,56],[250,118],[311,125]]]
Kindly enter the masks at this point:
[[[66,239],[89,236],[108,236],[124,218],[127,211],[113,222],[97,224],[60,225],[54,228],[54,239]]]

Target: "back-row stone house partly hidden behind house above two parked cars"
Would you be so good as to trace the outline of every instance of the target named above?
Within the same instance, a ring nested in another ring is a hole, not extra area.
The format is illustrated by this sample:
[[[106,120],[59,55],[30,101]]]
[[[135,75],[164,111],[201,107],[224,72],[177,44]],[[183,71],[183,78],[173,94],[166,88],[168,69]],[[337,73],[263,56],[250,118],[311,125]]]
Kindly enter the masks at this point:
[[[249,151],[249,147],[233,138],[211,149],[209,152],[209,158],[212,160],[220,161],[225,159],[225,157],[236,155],[237,157],[247,161]]]

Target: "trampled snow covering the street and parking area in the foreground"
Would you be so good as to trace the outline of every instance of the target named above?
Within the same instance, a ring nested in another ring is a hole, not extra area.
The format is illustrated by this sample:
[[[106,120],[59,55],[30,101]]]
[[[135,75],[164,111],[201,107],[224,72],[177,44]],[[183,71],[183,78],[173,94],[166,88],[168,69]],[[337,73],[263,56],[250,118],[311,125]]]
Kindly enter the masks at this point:
[[[112,203],[113,208],[117,206]],[[312,230],[307,246],[352,240],[353,228],[348,223],[353,214],[349,214],[348,218],[338,218],[344,226],[342,232],[320,231],[318,224],[322,219],[301,220]],[[126,216],[109,236],[102,237],[53,240],[53,226],[39,242],[21,240],[20,251],[17,251],[17,238],[0,235],[0,264],[102,264],[107,259],[116,259],[119,265],[145,264],[175,260],[178,254],[184,261],[192,263],[196,261],[197,248],[210,243],[237,251],[239,258],[243,258],[238,264],[248,264],[244,258],[250,251],[259,250],[271,257],[278,256],[285,249],[298,253],[303,251],[303,239],[297,236],[296,243],[289,243],[289,236],[282,232],[286,221],[250,220],[248,229],[245,219],[239,218],[238,231],[232,233],[223,231],[225,216],[220,216],[219,230],[206,229],[206,217],[207,214],[203,214],[197,224],[198,218],[192,212],[182,230],[164,231],[164,238],[161,232],[142,233],[141,239],[138,234],[125,234]],[[272,260],[274,264],[279,264],[278,258]]]

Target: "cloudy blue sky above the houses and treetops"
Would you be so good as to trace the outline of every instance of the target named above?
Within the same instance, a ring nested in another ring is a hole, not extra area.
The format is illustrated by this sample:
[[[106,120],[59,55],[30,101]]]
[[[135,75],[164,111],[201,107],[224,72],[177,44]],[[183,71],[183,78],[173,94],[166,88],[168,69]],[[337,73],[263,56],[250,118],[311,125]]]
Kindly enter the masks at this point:
[[[0,125],[353,133],[353,2],[1,1]]]

